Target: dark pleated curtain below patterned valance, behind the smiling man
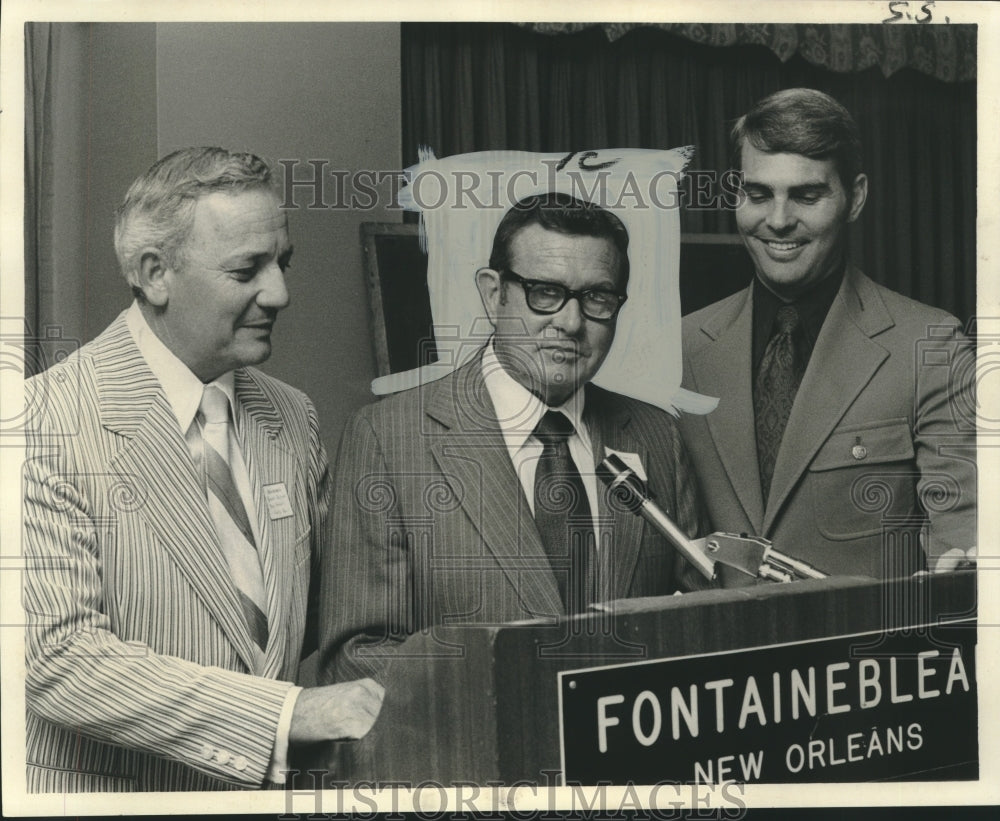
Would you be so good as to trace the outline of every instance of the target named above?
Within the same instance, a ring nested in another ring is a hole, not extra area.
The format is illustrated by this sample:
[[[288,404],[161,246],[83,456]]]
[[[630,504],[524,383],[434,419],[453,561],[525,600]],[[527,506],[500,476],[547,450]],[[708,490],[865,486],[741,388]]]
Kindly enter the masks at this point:
[[[915,28],[915,27],[910,27]],[[730,167],[727,131],[773,91],[809,86],[855,116],[870,194],[852,256],[879,282],[975,313],[976,83],[912,68],[837,73],[757,45],[715,47],[654,28],[547,35],[505,23],[407,23],[403,159],[417,147],[570,151],[694,145],[691,168]],[[681,214],[686,232],[732,233],[722,208]]]

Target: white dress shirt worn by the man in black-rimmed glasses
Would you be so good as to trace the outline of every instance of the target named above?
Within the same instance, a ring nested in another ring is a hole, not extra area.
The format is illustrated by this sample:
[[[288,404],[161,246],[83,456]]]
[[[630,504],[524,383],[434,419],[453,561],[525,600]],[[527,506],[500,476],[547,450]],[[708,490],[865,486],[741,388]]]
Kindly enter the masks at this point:
[[[573,464],[580,472],[583,488],[590,503],[590,515],[594,520],[596,542],[601,544],[597,527],[597,474],[594,472],[594,449],[583,423],[584,390],[580,388],[562,405],[550,408],[535,394],[515,380],[497,359],[493,342],[483,352],[483,380],[486,390],[496,410],[497,421],[503,434],[507,453],[514,465],[524,496],[532,515],[535,513],[535,471],[544,446],[534,436],[535,427],[548,410],[564,413],[573,423],[573,434],[567,440]]]

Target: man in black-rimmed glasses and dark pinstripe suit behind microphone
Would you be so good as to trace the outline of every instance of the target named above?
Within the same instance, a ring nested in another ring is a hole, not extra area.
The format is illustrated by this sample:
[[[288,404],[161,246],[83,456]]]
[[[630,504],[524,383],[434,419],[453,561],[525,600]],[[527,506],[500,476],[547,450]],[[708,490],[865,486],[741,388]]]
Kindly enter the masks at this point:
[[[475,275],[489,342],[348,425],[320,600],[330,680],[379,677],[399,641],[436,624],[551,620],[687,586],[675,550],[594,475],[619,454],[681,528],[706,532],[673,418],[589,384],[628,277],[613,214],[566,195],[519,201]]]

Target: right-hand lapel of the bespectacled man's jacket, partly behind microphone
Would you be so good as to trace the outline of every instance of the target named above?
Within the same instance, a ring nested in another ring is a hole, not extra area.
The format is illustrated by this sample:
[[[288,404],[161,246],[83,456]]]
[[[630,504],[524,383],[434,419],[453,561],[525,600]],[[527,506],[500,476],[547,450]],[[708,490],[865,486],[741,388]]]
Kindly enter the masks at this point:
[[[635,453],[643,465],[649,464],[645,448],[630,430],[631,416],[624,408],[611,411],[603,401],[603,393],[587,386],[583,418],[590,434],[594,465],[606,456],[606,448]],[[655,492],[655,488],[653,488]],[[642,545],[643,522],[620,504],[612,504],[610,491],[598,480],[598,521],[600,523],[600,566],[610,571],[610,579],[602,581],[599,598],[618,599],[628,595],[635,574],[639,549]]]

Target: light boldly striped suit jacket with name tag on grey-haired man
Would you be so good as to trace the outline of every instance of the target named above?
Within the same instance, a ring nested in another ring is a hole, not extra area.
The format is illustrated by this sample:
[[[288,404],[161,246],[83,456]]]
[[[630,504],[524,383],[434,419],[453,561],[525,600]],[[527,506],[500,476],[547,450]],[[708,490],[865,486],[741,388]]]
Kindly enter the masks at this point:
[[[235,373],[261,527],[266,677],[190,451],[124,314],[27,383],[28,788],[203,790],[262,783],[303,650],[330,482],[300,392]],[[263,486],[284,483],[272,519]]]

